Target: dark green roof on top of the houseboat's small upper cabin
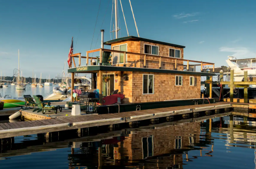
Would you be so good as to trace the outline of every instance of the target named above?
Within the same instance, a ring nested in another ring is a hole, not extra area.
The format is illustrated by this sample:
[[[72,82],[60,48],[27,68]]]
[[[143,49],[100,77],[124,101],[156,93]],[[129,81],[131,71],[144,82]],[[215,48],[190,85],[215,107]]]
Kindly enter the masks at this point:
[[[176,45],[176,44],[172,44],[172,43],[154,41],[154,40],[151,40],[151,39],[146,39],[146,38],[136,37],[136,36],[127,36],[127,37],[121,37],[121,38],[118,38],[118,39],[113,39],[111,41],[104,42],[104,44],[105,45],[111,45],[113,43],[125,42],[125,41],[145,41],[145,42],[157,43],[157,44],[162,44],[162,45],[167,45],[167,46],[185,48],[185,46],[182,46],[182,45]]]

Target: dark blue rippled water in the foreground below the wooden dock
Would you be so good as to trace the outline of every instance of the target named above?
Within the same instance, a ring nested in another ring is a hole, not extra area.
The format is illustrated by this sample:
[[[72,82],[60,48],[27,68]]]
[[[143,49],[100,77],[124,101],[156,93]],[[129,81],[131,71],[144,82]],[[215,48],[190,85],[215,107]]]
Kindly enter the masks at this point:
[[[2,139],[0,168],[255,168],[256,123],[232,117]]]

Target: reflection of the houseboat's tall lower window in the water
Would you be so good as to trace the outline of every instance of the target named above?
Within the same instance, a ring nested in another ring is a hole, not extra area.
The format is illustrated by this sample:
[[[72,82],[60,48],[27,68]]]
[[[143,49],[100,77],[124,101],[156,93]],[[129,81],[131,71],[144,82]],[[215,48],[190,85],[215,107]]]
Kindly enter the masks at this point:
[[[146,157],[152,157],[154,155],[154,142],[153,135],[147,138],[142,138],[142,156],[143,159]]]

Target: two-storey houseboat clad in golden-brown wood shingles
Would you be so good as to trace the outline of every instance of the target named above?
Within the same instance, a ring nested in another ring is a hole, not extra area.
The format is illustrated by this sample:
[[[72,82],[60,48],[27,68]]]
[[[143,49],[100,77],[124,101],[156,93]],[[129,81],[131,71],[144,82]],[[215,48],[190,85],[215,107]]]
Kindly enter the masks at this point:
[[[101,31],[100,49],[87,51],[86,57],[81,57],[81,53],[71,55],[79,58],[78,66],[72,67],[71,62],[68,69],[72,74],[72,97],[74,74],[91,73],[92,88],[99,91],[98,112],[206,103],[200,98],[200,78],[212,79],[215,74],[203,72],[203,66],[212,65],[214,69],[214,63],[184,59],[185,46],[142,37],[127,36],[103,42],[104,30]],[[105,49],[105,45],[111,46],[111,50]],[[93,64],[94,58],[89,57],[92,52],[99,52],[98,64]],[[82,58],[86,59],[85,66],[81,65]],[[200,71],[196,71],[196,66]],[[107,82],[103,81],[104,77],[108,77]],[[119,105],[106,105],[107,96],[117,90],[125,97]],[[213,102],[212,99],[206,101]]]

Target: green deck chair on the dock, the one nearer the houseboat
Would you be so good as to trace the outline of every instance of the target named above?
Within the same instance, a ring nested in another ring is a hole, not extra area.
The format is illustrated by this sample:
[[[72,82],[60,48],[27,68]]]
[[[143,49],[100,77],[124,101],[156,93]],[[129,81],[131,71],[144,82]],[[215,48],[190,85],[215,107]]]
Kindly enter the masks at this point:
[[[34,111],[37,111],[37,112],[43,111],[43,114],[45,114],[45,112],[53,111],[55,114],[57,114],[58,109],[60,112],[62,111],[62,107],[60,107],[60,106],[51,106],[50,102],[41,102],[40,99],[36,95],[33,95],[33,97],[38,106],[36,109],[33,110],[33,112]]]

